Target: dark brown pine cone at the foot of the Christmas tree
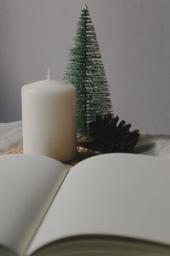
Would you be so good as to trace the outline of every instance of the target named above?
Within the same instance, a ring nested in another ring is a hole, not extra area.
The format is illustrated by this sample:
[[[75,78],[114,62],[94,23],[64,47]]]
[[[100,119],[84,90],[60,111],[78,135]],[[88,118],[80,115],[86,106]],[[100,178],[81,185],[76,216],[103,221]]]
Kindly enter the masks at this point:
[[[92,142],[80,142],[79,146],[100,153],[133,153],[133,148],[139,140],[139,130],[129,131],[131,125],[122,120],[118,124],[119,117],[112,114],[100,115],[89,125]]]

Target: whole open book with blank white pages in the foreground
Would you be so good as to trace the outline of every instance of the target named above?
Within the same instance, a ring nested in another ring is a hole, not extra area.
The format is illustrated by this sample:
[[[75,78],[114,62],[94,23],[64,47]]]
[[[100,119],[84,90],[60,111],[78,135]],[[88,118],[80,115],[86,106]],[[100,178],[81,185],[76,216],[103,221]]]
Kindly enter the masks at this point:
[[[170,161],[0,156],[0,255],[170,255]]]

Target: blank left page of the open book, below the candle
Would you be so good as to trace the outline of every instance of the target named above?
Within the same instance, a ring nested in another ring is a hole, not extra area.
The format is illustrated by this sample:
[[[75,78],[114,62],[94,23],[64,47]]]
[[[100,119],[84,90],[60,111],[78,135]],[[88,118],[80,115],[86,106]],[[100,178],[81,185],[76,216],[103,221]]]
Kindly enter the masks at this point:
[[[42,155],[0,156],[0,243],[22,254],[67,173]]]

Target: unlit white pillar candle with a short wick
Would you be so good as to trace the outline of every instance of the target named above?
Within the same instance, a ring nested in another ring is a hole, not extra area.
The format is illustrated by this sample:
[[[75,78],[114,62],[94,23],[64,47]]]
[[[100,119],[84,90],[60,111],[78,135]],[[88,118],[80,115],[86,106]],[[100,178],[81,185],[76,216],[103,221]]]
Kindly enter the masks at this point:
[[[76,89],[50,79],[21,89],[24,154],[43,154],[56,160],[76,155]]]

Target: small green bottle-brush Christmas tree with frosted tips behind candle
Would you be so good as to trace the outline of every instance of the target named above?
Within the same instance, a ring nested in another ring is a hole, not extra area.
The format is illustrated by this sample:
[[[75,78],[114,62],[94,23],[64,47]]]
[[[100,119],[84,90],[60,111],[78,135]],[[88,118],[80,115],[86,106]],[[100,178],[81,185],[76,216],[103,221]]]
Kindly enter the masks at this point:
[[[77,89],[77,136],[88,137],[89,123],[98,114],[112,113],[112,106],[99,44],[86,4],[77,22],[77,34],[63,79]]]

